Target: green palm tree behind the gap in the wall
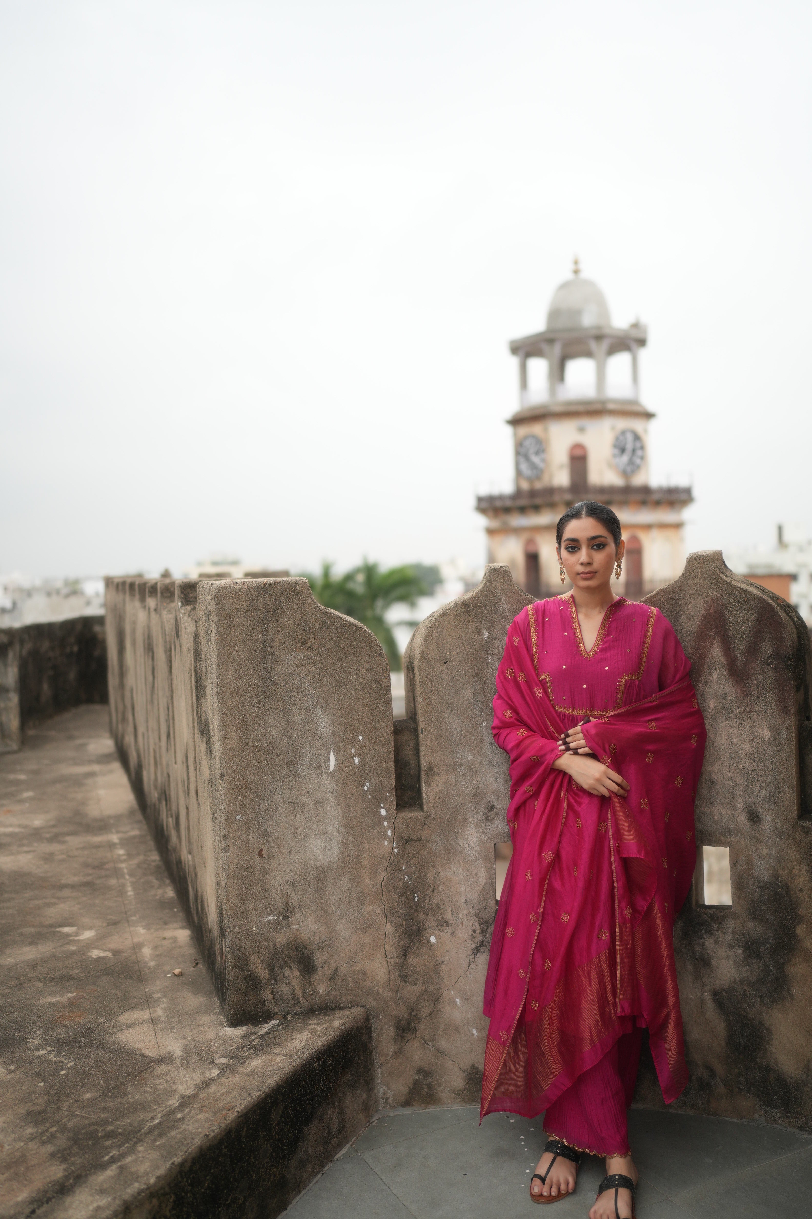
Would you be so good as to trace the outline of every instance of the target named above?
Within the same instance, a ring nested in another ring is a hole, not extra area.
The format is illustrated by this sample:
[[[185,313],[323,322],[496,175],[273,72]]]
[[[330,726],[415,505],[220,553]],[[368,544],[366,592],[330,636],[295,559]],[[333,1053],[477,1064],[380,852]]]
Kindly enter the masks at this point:
[[[386,620],[386,611],[401,602],[414,606],[418,597],[429,592],[422,573],[419,575],[411,564],[390,567],[382,572],[377,563],[370,563],[366,558],[360,567],[353,567],[343,575],[334,575],[332,566],[324,562],[320,575],[307,577],[313,596],[320,605],[363,622],[383,647],[390,668],[399,669],[401,652]],[[396,625],[415,627],[416,623],[399,622]]]

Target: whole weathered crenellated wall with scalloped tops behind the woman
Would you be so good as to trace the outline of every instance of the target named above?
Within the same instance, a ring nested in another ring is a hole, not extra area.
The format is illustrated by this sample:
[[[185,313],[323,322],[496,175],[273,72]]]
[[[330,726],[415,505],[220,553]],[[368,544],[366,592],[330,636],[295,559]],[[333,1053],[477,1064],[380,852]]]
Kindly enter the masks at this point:
[[[385,1104],[478,1098],[508,839],[491,701],[527,600],[489,567],[421,623],[393,724],[377,640],[306,580],[107,581],[113,736],[228,1019],[364,1006]],[[808,634],[721,555],[651,600],[709,725],[698,840],[733,863],[733,906],[677,924],[681,1104],[812,1128]]]

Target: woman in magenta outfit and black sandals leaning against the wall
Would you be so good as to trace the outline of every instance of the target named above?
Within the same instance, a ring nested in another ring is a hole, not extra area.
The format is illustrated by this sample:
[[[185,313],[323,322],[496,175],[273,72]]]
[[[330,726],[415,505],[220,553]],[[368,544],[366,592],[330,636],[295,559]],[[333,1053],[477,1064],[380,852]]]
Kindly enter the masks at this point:
[[[533,1202],[571,1193],[586,1151],[606,1159],[590,1219],[631,1219],[642,1029],[666,1102],[688,1081],[672,929],[694,873],[705,725],[671,624],[611,591],[625,550],[611,508],[576,503],[556,542],[572,592],[522,610],[497,672],[514,853],[485,991],[482,1115],[547,1111]]]

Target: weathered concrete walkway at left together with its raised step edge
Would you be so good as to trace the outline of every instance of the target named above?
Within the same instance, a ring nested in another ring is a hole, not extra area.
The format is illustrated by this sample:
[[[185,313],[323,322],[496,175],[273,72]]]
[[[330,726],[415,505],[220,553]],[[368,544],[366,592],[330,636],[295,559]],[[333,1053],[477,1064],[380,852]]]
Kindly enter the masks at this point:
[[[366,1013],[226,1026],[106,719],[0,759],[0,1215],[275,1215],[374,1108]]]

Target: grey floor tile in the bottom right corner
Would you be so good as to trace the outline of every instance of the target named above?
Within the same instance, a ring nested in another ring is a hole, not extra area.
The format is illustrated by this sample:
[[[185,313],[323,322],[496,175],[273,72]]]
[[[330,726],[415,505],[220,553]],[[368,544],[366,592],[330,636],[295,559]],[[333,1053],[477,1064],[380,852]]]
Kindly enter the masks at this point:
[[[812,1214],[812,1147],[710,1181],[674,1201],[691,1219],[806,1219]]]

